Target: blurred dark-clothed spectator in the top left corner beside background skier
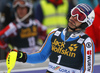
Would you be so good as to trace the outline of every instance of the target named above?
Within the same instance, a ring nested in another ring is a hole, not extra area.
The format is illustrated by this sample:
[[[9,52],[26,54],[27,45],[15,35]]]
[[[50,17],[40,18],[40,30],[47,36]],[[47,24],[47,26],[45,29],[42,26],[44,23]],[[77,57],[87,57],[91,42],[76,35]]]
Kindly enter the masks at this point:
[[[10,22],[15,20],[14,9],[12,5],[13,5],[13,0],[8,0],[7,4],[1,11],[2,28],[6,27]]]

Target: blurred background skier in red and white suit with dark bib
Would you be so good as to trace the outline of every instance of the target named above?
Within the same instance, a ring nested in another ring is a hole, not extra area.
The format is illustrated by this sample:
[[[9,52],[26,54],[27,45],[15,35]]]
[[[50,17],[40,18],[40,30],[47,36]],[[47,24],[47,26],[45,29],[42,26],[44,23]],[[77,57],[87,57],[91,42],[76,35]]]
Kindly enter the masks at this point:
[[[0,48],[8,50],[8,44],[26,53],[38,51],[38,40],[46,38],[46,27],[31,18],[32,4],[28,0],[14,0],[15,21],[0,31]]]

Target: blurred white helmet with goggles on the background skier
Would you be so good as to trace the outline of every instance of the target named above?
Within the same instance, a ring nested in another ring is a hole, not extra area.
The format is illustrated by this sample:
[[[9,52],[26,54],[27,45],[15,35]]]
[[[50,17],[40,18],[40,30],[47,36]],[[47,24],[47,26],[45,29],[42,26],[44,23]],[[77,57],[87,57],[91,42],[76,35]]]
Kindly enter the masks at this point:
[[[17,6],[21,6],[21,7],[28,7],[28,13],[23,17],[23,18],[19,18],[17,13],[15,12],[15,17],[16,20],[18,22],[24,21],[25,19],[27,19],[31,14],[32,14],[32,4],[30,2],[31,0],[14,0],[13,2],[13,7],[16,8]]]

